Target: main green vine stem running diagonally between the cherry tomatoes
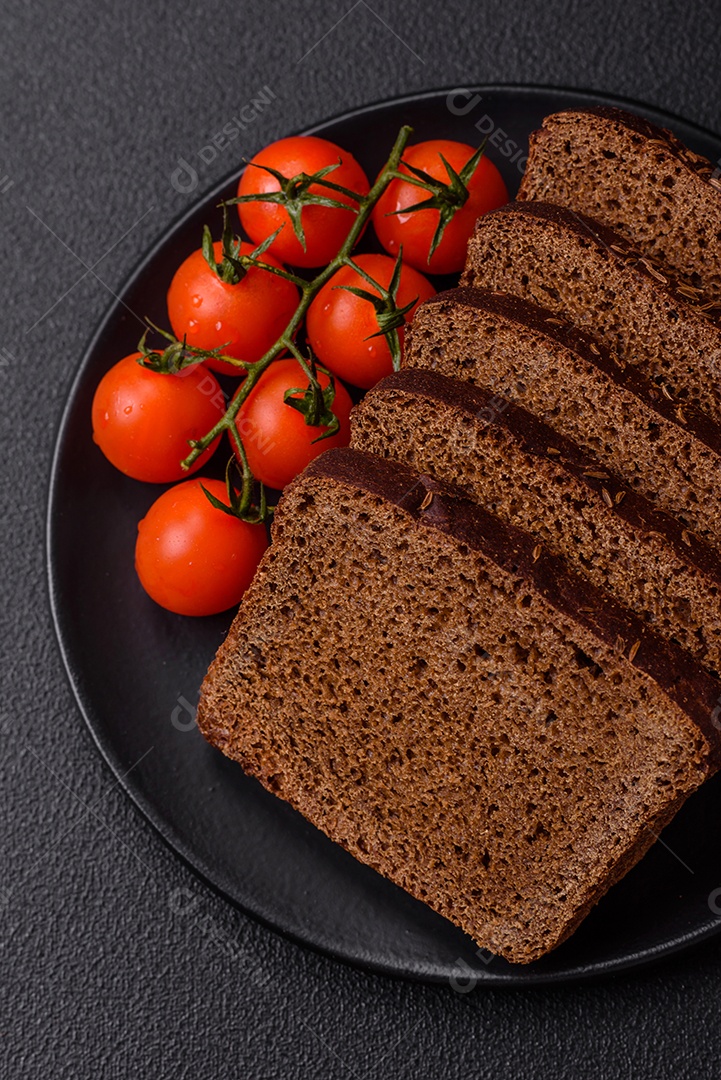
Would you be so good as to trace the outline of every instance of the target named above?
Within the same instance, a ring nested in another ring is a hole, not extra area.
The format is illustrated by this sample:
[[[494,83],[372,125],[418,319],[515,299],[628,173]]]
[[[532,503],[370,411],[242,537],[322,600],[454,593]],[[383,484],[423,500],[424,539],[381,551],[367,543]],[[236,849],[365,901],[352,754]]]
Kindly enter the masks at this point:
[[[210,431],[207,432],[206,435],[203,435],[202,438],[193,441],[190,454],[182,461],[183,469],[190,469],[190,467],[198,460],[201,454],[203,454],[204,450],[206,450],[207,447],[213,442],[215,442],[215,440],[219,435],[221,435],[223,431],[228,431],[230,433],[233,446],[241,457],[241,462],[243,464],[243,475],[244,477],[246,476],[246,474],[249,475],[249,469],[247,464],[247,458],[245,456],[245,449],[244,448],[240,449],[243,446],[243,442],[237,432],[237,428],[235,427],[235,418],[237,417],[241,406],[248,397],[250,391],[257,384],[258,379],[263,374],[263,372],[273,363],[274,360],[277,360],[281,353],[284,352],[286,349],[294,356],[296,356],[296,359],[299,360],[301,366],[305,372],[305,375],[309,376],[309,379],[312,380],[313,378],[312,373],[308,367],[308,364],[304,361],[304,359],[300,357],[299,355],[300,350],[298,350],[295,345],[294,339],[296,337],[296,334],[300,329],[303,320],[308,314],[308,309],[310,308],[311,303],[313,302],[319,291],[332,278],[332,275],[337,273],[338,270],[341,269],[341,267],[348,265],[351,252],[353,251],[355,244],[359,240],[364,228],[368,224],[368,220],[370,218],[370,215],[373,211],[376,203],[383,194],[389,184],[392,180],[398,178],[399,176],[403,176],[404,179],[407,179],[407,177],[404,176],[404,174],[398,173],[398,165],[400,163],[403,152],[406,149],[406,146],[408,145],[408,139],[410,138],[411,134],[412,134],[412,127],[404,126],[400,129],[398,135],[396,136],[396,140],[393,144],[393,149],[389,154],[389,159],[385,165],[383,166],[382,172],[379,174],[376,183],[371,187],[368,194],[359,200],[358,212],[338,254],[323,270],[319,271],[319,273],[316,274],[315,278],[313,278],[312,281],[310,282],[303,281],[300,284],[299,286],[300,300],[298,301],[298,307],[296,308],[290,319],[290,322],[286,326],[285,330],[277,339],[275,345],[271,346],[268,352],[266,352],[260,357],[260,360],[258,360],[255,364],[250,364],[248,366],[247,375],[243,380],[240,390],[237,391],[233,400],[230,402],[225,415],[220,418],[220,420],[218,420],[218,422],[210,429]],[[298,281],[300,282],[301,279],[298,279]]]

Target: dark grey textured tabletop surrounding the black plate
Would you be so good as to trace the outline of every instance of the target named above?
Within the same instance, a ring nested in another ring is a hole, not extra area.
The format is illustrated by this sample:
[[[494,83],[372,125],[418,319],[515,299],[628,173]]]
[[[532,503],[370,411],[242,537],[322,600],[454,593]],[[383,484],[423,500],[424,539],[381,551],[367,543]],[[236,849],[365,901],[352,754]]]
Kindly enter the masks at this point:
[[[3,5],[2,1077],[718,1075],[721,941],[598,985],[462,996],[352,971],[232,910],[118,791],[54,642],[45,486],[77,360],[109,291],[237,157],[368,100],[480,81],[604,90],[721,129],[710,3],[439,11]],[[263,86],[276,99],[199,164]],[[181,157],[190,194],[171,184]]]

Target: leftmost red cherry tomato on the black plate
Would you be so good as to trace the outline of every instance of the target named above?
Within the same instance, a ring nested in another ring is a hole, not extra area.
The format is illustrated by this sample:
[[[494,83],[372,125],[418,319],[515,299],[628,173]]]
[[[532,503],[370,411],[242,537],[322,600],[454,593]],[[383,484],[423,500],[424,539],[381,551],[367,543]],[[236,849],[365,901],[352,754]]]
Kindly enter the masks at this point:
[[[202,365],[179,375],[159,375],[137,363],[134,352],[100,379],[93,399],[93,438],[106,458],[135,480],[166,484],[189,473],[180,462],[189,441],[200,438],[226,411],[218,380]],[[218,440],[190,472],[212,456]]]

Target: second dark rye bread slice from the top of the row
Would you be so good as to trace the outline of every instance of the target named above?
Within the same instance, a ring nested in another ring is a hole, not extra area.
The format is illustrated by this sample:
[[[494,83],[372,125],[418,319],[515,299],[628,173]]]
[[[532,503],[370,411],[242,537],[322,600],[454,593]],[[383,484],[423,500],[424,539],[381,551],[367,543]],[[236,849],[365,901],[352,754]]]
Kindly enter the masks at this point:
[[[680,405],[721,422],[718,318],[597,221],[548,203],[508,203],[478,220],[462,284],[564,314]]]

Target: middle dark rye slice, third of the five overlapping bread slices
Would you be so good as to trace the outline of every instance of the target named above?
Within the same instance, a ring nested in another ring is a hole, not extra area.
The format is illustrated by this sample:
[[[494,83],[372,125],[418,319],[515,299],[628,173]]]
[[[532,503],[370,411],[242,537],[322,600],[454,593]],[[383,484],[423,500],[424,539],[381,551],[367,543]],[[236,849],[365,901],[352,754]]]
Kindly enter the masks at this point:
[[[413,315],[404,365],[511,399],[721,550],[719,428],[558,315],[487,289],[439,293]]]

